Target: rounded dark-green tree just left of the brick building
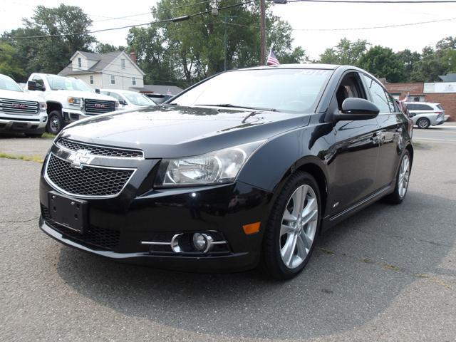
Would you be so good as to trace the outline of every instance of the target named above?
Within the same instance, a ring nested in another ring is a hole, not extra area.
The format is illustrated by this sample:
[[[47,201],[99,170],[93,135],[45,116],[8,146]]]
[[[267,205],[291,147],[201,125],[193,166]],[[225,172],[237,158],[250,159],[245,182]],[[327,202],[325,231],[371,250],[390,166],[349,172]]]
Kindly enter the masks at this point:
[[[374,76],[397,83],[405,78],[405,66],[390,48],[373,46],[359,61],[359,66]]]

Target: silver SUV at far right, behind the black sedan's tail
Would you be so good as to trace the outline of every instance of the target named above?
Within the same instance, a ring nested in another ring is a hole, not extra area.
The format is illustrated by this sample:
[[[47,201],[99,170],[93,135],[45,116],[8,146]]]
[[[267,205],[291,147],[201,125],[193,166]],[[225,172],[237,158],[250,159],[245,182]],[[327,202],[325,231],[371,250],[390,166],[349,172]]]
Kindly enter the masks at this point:
[[[440,103],[406,102],[413,124],[418,128],[442,125],[445,123],[445,110]]]

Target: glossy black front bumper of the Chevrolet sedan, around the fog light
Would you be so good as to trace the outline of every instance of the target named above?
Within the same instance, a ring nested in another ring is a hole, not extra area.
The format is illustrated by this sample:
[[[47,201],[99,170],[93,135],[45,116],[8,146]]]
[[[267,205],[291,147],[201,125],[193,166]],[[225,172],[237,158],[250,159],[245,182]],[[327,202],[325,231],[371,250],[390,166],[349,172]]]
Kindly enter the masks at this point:
[[[49,218],[50,191],[55,190],[42,176],[39,224],[53,239],[117,261],[185,271],[238,271],[257,266],[272,197],[242,182],[152,190],[133,197],[126,189],[112,199],[87,199],[88,232],[79,234]],[[260,231],[245,234],[242,226],[253,222],[261,222]],[[141,244],[174,234],[210,231],[227,241],[226,249],[207,254],[157,252]]]

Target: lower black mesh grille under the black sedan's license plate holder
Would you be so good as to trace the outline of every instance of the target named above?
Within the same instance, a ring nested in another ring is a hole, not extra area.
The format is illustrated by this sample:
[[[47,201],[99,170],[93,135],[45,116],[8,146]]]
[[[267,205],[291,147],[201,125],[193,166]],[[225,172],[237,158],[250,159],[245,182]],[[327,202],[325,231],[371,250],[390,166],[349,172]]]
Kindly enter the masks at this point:
[[[56,232],[62,234],[63,237],[108,251],[115,251],[118,249],[120,240],[120,232],[118,230],[95,227],[90,224],[88,229],[86,229],[86,232],[84,232],[84,234],[80,234],[72,229],[58,224],[57,222],[54,222],[49,215],[48,208],[43,205],[41,205],[41,214],[43,215],[43,219],[46,221],[46,224],[48,224],[48,226]]]

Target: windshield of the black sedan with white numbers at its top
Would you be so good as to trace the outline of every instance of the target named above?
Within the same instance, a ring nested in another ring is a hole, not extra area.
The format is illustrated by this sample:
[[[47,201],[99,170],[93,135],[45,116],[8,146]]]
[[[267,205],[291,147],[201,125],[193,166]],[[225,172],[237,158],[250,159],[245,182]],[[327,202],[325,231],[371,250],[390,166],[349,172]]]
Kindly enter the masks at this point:
[[[332,70],[261,69],[221,73],[172,101],[177,105],[223,105],[304,112],[316,103]]]

